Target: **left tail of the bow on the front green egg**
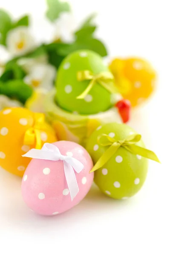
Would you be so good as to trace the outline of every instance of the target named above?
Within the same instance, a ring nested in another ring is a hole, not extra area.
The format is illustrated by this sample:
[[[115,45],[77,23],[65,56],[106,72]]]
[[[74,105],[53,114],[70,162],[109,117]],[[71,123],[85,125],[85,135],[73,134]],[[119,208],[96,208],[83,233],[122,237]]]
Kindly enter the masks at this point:
[[[118,148],[121,145],[119,143],[113,143],[107,150],[104,152],[104,154],[99,158],[95,166],[93,166],[92,170],[90,172],[95,172],[102,166],[104,166],[107,161],[115,154],[115,152],[118,150]]]

